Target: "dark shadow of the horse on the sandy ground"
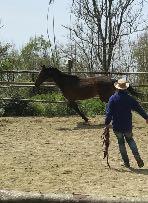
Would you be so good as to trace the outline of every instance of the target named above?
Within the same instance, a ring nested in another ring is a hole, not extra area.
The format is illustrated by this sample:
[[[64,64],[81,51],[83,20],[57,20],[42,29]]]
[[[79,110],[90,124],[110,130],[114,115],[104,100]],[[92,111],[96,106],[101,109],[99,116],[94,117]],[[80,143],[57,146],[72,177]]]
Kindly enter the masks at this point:
[[[104,128],[104,124],[96,124],[96,123],[84,123],[84,122],[78,122],[77,125],[74,128],[58,128],[57,130],[59,131],[64,131],[64,130],[80,130],[80,129],[103,129]]]

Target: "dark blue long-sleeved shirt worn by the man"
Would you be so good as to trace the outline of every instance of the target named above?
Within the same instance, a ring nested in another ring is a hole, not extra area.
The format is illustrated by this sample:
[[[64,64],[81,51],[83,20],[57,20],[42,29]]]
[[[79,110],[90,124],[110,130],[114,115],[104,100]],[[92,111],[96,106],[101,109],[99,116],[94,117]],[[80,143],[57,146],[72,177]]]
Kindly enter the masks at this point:
[[[116,92],[109,99],[106,108],[105,125],[109,125],[112,121],[114,131],[131,132],[132,110],[139,113],[144,119],[148,119],[148,114],[126,91]]]

